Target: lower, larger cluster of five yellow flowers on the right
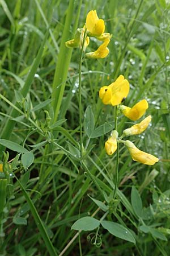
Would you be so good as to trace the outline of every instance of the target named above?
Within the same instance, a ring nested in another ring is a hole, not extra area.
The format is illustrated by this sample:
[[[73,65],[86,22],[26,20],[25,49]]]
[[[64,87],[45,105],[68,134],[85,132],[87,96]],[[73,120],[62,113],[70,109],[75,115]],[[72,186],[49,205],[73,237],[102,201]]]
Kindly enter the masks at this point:
[[[124,76],[120,75],[115,82],[108,86],[100,88],[99,97],[105,105],[118,106],[120,111],[128,117],[130,120],[136,121],[145,114],[148,109],[148,103],[146,100],[139,101],[132,108],[128,106],[120,105],[128,96],[129,82],[124,79]],[[117,150],[117,143],[124,143],[128,148],[131,158],[139,163],[153,165],[158,162],[158,158],[139,150],[131,141],[123,141],[122,138],[141,134],[145,131],[151,122],[151,115],[148,115],[142,122],[125,129],[120,138],[118,138],[118,132],[112,131],[111,137],[105,142],[105,150],[108,155],[112,155]]]

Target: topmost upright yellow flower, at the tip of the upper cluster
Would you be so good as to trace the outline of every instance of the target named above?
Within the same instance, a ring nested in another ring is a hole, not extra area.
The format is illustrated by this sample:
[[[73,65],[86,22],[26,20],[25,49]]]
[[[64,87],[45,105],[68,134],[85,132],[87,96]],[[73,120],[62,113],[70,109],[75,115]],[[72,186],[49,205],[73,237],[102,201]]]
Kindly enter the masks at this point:
[[[89,36],[100,36],[104,33],[105,24],[103,19],[99,19],[96,10],[90,11],[86,18],[87,34]]]

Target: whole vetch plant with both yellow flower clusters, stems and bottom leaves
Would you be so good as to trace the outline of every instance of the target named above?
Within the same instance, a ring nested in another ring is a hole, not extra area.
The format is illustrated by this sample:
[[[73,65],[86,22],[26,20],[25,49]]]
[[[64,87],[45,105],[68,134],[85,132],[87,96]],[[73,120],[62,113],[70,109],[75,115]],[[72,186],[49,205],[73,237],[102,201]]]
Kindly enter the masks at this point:
[[[111,132],[111,136],[105,142],[105,151],[108,155],[113,155],[114,152],[117,152],[116,156],[116,181],[114,185],[114,191],[109,195],[106,195],[104,191],[100,188],[95,177],[91,174],[90,170],[88,170],[86,162],[83,160],[83,141],[82,141],[82,100],[81,100],[81,70],[82,70],[82,57],[83,52],[86,51],[88,44],[90,43],[90,38],[94,36],[96,39],[103,41],[103,43],[99,46],[98,49],[94,52],[86,53],[87,58],[91,59],[99,59],[104,58],[108,55],[109,49],[107,48],[111,34],[104,33],[105,24],[103,19],[99,19],[96,13],[96,10],[90,11],[87,14],[86,24],[83,28],[78,28],[75,38],[66,42],[66,47],[79,47],[80,48],[80,57],[79,57],[79,125],[80,125],[80,161],[82,167],[86,170],[87,174],[90,176],[91,180],[96,184],[97,188],[104,196],[106,203],[104,204],[99,200],[92,199],[101,209],[104,210],[105,214],[99,220],[96,220],[94,217],[83,217],[76,221],[71,229],[74,230],[84,230],[90,231],[96,229],[96,233],[91,233],[89,235],[91,243],[96,246],[101,245],[101,237],[99,235],[100,225],[103,226],[104,229],[107,229],[109,233],[113,234],[116,237],[119,237],[123,240],[135,243],[135,237],[132,230],[125,228],[124,225],[117,224],[113,221],[105,221],[105,217],[109,213],[112,212],[112,209],[117,207],[118,200],[115,199],[118,187],[118,168],[119,168],[119,144],[123,143],[129,150],[130,155],[133,160],[152,165],[158,162],[158,158],[152,156],[146,152],[139,150],[133,142],[124,141],[124,137],[128,137],[130,135],[141,134],[145,131],[151,122],[151,115],[143,119],[142,122],[137,123],[131,126],[128,129],[125,129],[121,136],[118,134],[118,114],[122,112],[129,119],[136,121],[141,118],[147,108],[148,103],[146,100],[139,101],[132,108],[128,106],[122,105],[122,102],[126,100],[126,97],[129,94],[130,85],[129,81],[125,79],[123,75],[118,76],[116,81],[112,82],[108,86],[103,86],[99,90],[99,97],[103,104],[111,105],[116,108],[116,114],[114,117],[114,130]],[[87,117],[88,116],[88,117]],[[86,121],[88,119],[88,121]],[[87,107],[86,113],[84,115],[84,130],[89,138],[94,136],[94,114],[90,106]],[[91,238],[92,236],[92,238]]]

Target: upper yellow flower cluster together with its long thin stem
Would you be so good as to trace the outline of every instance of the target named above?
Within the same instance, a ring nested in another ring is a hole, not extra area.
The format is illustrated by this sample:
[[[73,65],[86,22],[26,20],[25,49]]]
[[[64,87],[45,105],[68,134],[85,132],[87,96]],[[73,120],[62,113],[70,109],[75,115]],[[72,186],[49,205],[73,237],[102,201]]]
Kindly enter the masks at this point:
[[[78,28],[74,39],[67,41],[66,47],[79,47],[79,126],[80,126],[80,158],[83,155],[83,140],[82,140],[82,61],[83,52],[90,43],[89,37],[95,37],[103,44],[95,52],[86,53],[86,57],[90,59],[99,59],[107,57],[109,49],[107,48],[112,37],[109,33],[104,33],[105,24],[103,19],[99,19],[96,10],[91,10],[86,17],[86,24],[83,28]]]

